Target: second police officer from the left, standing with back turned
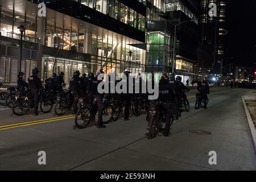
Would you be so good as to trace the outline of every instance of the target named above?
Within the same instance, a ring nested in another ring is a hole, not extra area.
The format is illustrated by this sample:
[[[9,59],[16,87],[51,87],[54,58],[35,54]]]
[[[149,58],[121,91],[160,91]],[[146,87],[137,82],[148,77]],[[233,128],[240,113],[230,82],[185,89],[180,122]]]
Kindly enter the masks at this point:
[[[38,115],[38,94],[39,89],[43,88],[42,82],[38,77],[38,68],[32,69],[32,76],[28,78],[28,84],[31,89],[32,96],[34,98],[34,115]]]

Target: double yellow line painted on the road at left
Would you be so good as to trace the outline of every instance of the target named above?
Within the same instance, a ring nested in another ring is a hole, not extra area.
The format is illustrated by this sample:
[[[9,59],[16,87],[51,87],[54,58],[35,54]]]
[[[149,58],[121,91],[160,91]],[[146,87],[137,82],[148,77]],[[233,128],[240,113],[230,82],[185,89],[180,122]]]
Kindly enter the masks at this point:
[[[30,121],[30,122],[23,122],[23,123],[16,123],[16,124],[12,124],[12,125],[5,125],[5,126],[0,126],[0,130],[3,129],[10,129],[13,127],[21,127],[21,126],[28,126],[28,125],[35,125],[35,124],[39,124],[39,123],[46,123],[46,122],[53,122],[53,121],[59,121],[61,119],[69,119],[69,118],[75,118],[74,115],[66,115],[63,117],[56,117],[56,118],[48,118],[48,119],[41,119],[41,120],[37,120],[37,121]]]

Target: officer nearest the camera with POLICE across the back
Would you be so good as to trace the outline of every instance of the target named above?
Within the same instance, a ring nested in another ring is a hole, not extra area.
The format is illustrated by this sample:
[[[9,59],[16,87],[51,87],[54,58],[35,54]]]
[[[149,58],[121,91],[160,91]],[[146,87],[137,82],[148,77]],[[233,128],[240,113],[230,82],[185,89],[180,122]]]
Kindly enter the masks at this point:
[[[159,97],[158,97],[158,107],[160,110],[165,110],[165,122],[166,129],[164,130],[164,137],[168,137],[170,127],[171,127],[171,118],[173,121],[172,115],[172,105],[171,102],[175,101],[175,92],[172,89],[168,77],[163,75],[159,81]]]

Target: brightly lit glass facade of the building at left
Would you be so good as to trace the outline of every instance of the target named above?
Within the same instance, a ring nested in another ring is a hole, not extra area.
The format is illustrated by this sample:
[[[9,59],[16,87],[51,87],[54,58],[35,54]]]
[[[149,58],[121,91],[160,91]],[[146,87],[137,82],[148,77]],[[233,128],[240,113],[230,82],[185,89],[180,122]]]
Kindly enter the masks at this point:
[[[110,16],[120,22],[145,31],[145,17],[121,2],[79,2],[103,14],[113,13]],[[113,11],[110,7],[114,8]],[[26,78],[34,67],[42,71],[42,80],[51,77],[52,73],[64,72],[67,83],[72,78],[73,72],[77,70],[88,74],[104,69],[108,75],[122,73],[125,69],[131,69],[134,73],[145,71],[146,50],[134,46],[143,42],[51,9],[47,9],[46,18],[40,18],[36,10],[36,3],[25,0],[14,1],[14,3],[2,1],[0,5],[0,41],[3,44],[0,54],[2,82],[10,84],[16,82],[16,75],[19,71],[20,39],[17,27],[20,24],[26,27],[22,52],[26,52],[27,49],[30,51],[30,56],[27,57],[26,53],[23,53],[25,57],[22,60],[22,71],[26,73]],[[3,39],[15,43],[10,44]],[[33,46],[36,45],[35,51],[31,51],[34,49],[30,45],[32,43]],[[11,49],[15,49],[14,54],[9,53]],[[46,49],[48,51],[45,51]],[[131,56],[130,51],[133,52]],[[36,56],[31,56],[33,53]],[[89,58],[82,59],[83,56]]]

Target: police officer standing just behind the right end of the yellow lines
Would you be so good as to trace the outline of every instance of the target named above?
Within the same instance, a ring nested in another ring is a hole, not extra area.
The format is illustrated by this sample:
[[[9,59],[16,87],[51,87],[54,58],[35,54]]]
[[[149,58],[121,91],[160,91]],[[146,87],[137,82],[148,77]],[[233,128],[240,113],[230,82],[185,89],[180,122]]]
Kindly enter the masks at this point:
[[[73,78],[69,81],[69,90],[71,90],[73,94],[73,112],[77,113],[77,101],[80,96],[81,91],[81,80],[80,80],[80,72],[76,71],[73,73]]]

